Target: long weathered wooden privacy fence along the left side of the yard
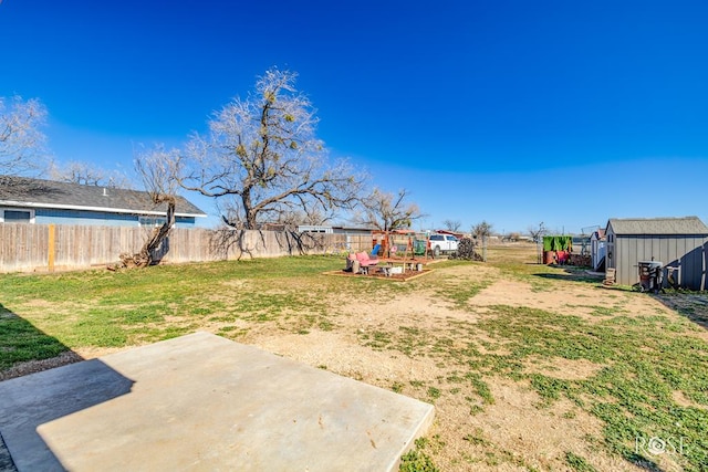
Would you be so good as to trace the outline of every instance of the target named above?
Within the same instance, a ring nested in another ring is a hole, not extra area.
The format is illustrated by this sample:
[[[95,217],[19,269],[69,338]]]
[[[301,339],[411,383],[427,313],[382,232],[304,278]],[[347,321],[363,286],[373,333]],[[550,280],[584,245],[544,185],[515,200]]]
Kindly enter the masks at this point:
[[[0,224],[0,272],[77,270],[116,264],[139,251],[152,228]],[[371,249],[368,235],[175,228],[157,250],[165,263],[333,254]]]

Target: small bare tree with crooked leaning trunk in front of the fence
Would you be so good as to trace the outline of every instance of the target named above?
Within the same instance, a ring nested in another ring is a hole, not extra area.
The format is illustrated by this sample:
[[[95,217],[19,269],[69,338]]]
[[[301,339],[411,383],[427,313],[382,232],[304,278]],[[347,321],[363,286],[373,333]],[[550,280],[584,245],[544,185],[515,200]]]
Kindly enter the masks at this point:
[[[153,229],[153,232],[135,254],[121,254],[121,262],[125,266],[145,268],[154,262],[155,251],[167,239],[169,231],[175,225],[175,206],[177,203],[177,180],[174,178],[170,164],[174,161],[175,151],[167,151],[163,147],[156,147],[150,151],[139,154],[135,159],[135,170],[143,179],[155,206],[166,206],[165,222]]]

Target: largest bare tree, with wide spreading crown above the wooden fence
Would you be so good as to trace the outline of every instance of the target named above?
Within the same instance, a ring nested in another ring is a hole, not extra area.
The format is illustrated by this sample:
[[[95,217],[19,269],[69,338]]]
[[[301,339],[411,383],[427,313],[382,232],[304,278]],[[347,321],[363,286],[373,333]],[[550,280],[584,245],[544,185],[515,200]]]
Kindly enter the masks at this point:
[[[248,99],[215,113],[208,136],[194,135],[175,160],[183,188],[226,200],[221,218],[231,227],[256,229],[296,210],[351,209],[361,193],[363,176],[346,161],[330,166],[295,78],[267,71]]]

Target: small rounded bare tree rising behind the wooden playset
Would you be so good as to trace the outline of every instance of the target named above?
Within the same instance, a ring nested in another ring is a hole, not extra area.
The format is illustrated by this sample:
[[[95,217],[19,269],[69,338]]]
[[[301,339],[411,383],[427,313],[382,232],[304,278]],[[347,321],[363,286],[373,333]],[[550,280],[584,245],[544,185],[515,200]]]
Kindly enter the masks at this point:
[[[365,224],[382,231],[410,228],[413,221],[423,218],[416,203],[409,203],[409,196],[405,189],[397,195],[384,192],[375,188],[372,193],[362,200],[363,212],[355,216],[358,224]]]

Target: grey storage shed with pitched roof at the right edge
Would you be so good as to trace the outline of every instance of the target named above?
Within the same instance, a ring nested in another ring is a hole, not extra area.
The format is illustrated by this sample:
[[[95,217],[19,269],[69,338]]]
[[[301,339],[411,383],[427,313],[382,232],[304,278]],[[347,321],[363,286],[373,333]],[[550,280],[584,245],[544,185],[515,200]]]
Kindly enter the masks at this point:
[[[660,261],[677,268],[677,282],[684,289],[706,290],[708,227],[698,217],[617,219],[606,228],[606,268],[615,269],[616,282],[633,285],[639,281],[639,261]],[[666,275],[666,269],[664,269]],[[667,277],[664,277],[666,285]]]

